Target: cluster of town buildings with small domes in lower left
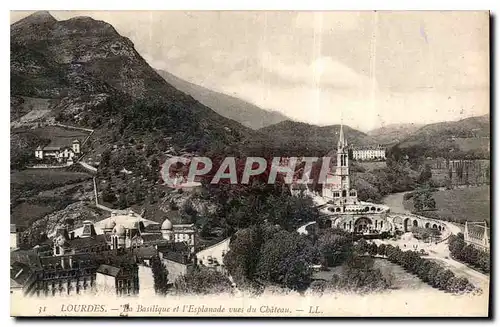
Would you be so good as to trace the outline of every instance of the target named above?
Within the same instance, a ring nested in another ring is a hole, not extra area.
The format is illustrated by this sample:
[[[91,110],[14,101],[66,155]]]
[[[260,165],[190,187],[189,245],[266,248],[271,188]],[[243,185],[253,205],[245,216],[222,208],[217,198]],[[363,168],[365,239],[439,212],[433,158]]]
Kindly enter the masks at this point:
[[[195,266],[226,274],[224,255],[229,238],[198,244],[194,224],[183,223],[175,210],[162,224],[134,212],[113,212],[99,222],[57,229],[42,244],[20,249],[11,226],[11,293],[55,296],[60,294],[154,294],[151,259],[158,257],[168,271],[169,283]]]

